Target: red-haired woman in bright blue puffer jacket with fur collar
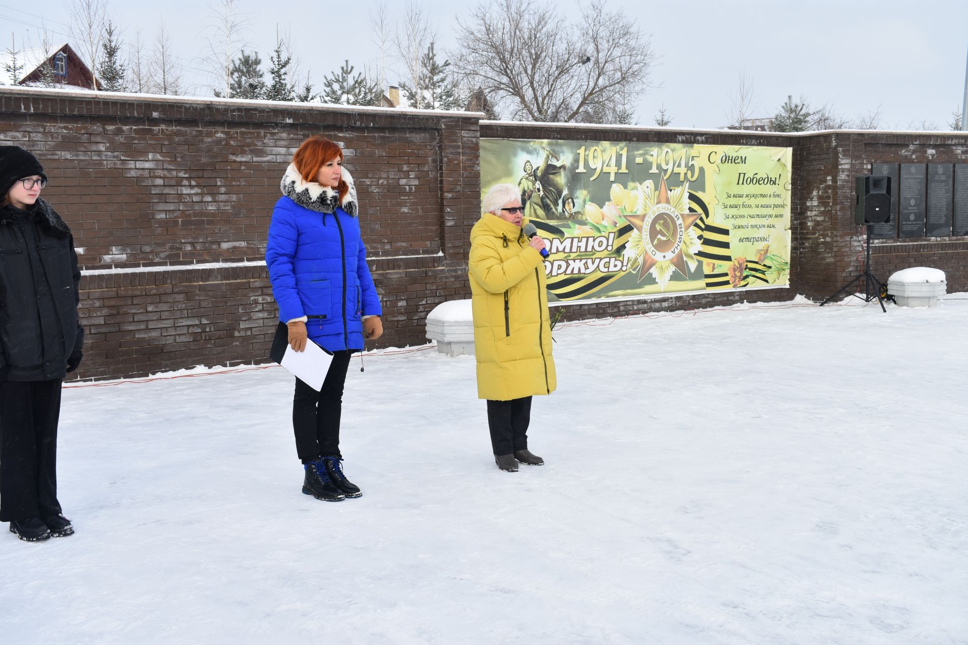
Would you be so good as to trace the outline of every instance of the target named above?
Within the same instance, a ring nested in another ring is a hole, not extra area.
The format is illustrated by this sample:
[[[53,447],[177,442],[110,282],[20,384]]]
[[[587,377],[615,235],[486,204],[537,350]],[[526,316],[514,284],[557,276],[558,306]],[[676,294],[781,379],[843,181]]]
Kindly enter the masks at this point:
[[[377,289],[360,237],[356,189],[343,151],[321,136],[303,141],[286,170],[269,224],[265,263],[293,350],[307,338],[333,355],[317,392],[296,379],[292,426],[302,491],[337,502],[363,493],[343,472],[340,412],[349,356],[383,333]]]

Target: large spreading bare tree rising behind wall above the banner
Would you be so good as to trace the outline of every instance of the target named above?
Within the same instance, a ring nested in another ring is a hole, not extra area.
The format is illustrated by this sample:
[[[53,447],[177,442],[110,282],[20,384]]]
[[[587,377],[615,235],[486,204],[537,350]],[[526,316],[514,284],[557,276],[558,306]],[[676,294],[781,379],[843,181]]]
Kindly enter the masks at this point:
[[[546,0],[495,0],[458,20],[454,67],[531,121],[628,120],[656,61],[634,19],[590,0],[569,24]]]

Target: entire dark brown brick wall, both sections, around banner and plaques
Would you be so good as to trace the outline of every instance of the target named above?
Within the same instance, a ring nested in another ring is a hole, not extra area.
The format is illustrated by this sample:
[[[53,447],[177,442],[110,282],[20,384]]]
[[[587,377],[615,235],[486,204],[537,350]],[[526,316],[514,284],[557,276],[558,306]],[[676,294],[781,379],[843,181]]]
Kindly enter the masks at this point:
[[[45,198],[75,233],[88,332],[79,378],[264,362],[276,324],[264,264],[279,180],[321,133],[345,146],[384,307],[372,347],[422,344],[426,314],[469,297],[479,138],[589,138],[794,149],[790,289],[562,306],[588,318],[734,302],[820,299],[860,270],[854,176],[880,162],[968,158],[959,133],[670,131],[480,122],[419,112],[0,88],[0,143],[34,152]],[[883,279],[914,265],[968,289],[968,238],[875,241]]]

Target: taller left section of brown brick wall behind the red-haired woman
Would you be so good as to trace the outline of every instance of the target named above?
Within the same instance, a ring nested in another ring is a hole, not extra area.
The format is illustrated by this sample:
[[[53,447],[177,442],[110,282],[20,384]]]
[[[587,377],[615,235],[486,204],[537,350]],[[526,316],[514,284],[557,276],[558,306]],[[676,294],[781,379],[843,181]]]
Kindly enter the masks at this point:
[[[387,329],[372,346],[426,342],[426,314],[469,295],[479,117],[0,88],[0,143],[40,158],[45,199],[74,231],[79,378],[266,359],[266,233],[287,163],[316,133],[345,146],[358,178]]]

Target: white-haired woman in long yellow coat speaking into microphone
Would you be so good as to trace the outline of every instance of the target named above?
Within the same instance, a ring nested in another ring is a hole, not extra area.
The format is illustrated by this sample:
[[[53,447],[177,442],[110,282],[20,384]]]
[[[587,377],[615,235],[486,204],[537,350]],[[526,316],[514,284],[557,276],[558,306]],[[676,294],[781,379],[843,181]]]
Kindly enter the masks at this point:
[[[551,324],[541,250],[528,239],[521,192],[493,187],[481,219],[470,230],[469,279],[477,357],[477,396],[487,399],[495,461],[515,472],[518,461],[544,460],[528,450],[531,396],[555,391]]]

